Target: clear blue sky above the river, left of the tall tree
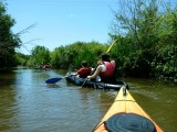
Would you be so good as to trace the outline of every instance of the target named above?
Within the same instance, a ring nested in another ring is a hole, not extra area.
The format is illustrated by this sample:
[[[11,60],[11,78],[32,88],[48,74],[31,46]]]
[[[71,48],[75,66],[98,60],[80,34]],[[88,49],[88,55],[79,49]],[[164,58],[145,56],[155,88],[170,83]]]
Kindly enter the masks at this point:
[[[13,33],[21,34],[23,46],[18,50],[31,54],[35,45],[51,52],[77,41],[107,43],[112,10],[116,0],[6,0],[7,13],[14,20]]]

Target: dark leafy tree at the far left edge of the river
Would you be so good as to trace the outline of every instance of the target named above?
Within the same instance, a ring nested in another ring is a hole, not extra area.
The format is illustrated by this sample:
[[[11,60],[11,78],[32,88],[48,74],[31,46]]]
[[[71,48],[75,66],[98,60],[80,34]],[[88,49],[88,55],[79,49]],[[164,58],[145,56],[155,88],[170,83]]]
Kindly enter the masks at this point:
[[[6,4],[0,1],[0,67],[15,65],[14,48],[20,46],[21,40],[11,31],[14,23],[14,19],[7,14]]]

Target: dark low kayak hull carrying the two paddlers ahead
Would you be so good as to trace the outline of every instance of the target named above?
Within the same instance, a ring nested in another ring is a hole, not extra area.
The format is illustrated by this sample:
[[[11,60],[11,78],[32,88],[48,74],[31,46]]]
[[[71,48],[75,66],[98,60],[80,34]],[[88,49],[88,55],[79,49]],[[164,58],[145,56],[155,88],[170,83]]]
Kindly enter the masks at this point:
[[[88,88],[97,88],[97,89],[114,89],[119,90],[122,86],[128,88],[128,85],[122,80],[116,80],[114,84],[105,84],[101,81],[91,81],[86,80],[85,78],[80,78],[74,76],[72,73],[67,73],[65,76],[66,80],[73,82],[77,86],[88,87]]]

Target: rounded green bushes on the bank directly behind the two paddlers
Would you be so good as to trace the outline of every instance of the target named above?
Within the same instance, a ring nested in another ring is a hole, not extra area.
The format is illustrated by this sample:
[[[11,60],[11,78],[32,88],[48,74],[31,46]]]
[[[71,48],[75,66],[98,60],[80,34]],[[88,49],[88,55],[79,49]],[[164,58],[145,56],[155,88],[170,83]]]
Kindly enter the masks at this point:
[[[83,59],[87,61],[88,66],[93,66],[100,55],[106,51],[106,45],[97,42],[73,44],[55,48],[51,53],[51,65],[55,68],[80,68]]]

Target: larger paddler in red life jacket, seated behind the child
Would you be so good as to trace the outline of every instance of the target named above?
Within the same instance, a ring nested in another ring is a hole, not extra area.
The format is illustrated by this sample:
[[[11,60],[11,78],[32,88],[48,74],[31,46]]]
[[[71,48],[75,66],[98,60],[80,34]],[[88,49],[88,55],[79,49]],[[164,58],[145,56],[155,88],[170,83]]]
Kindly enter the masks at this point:
[[[115,79],[115,61],[110,59],[108,53],[103,53],[97,68],[95,69],[93,75],[87,76],[86,78],[90,80],[95,79],[96,81],[101,80],[103,82],[113,81]]]

